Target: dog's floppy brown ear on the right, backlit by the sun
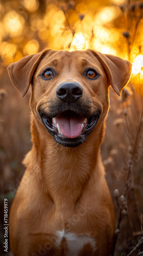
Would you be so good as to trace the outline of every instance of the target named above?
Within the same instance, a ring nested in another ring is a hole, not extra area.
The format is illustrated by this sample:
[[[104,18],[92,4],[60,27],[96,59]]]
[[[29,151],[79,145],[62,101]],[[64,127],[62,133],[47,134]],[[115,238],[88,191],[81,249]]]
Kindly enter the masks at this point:
[[[108,85],[111,85],[114,91],[120,96],[120,92],[130,79],[131,63],[128,60],[110,54],[102,54],[96,51],[93,51],[93,54],[99,59],[107,74]]]

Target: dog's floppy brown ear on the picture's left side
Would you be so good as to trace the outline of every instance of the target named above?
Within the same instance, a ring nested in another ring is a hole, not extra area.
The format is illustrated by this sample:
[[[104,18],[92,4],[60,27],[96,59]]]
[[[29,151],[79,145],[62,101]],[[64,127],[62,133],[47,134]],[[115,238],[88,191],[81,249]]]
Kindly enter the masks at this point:
[[[10,79],[14,86],[19,90],[21,97],[26,95],[36,67],[46,52],[47,50],[44,50],[39,53],[28,55],[17,62],[11,63],[8,67]]]

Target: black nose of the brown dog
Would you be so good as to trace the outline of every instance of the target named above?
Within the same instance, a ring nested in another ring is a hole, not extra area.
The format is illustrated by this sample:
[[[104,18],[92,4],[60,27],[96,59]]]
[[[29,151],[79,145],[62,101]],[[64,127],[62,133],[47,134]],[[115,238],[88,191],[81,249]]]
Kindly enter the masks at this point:
[[[68,104],[78,100],[82,97],[83,89],[77,82],[63,82],[57,90],[57,97]]]

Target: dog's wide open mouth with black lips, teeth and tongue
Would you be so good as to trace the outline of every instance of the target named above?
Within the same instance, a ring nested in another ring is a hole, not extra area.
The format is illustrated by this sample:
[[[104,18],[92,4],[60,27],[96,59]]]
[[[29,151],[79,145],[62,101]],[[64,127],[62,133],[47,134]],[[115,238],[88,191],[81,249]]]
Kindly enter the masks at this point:
[[[56,142],[64,146],[78,146],[83,143],[87,135],[93,130],[100,117],[100,113],[86,118],[80,114],[68,110],[56,117],[49,117],[40,112],[40,117],[47,131]]]

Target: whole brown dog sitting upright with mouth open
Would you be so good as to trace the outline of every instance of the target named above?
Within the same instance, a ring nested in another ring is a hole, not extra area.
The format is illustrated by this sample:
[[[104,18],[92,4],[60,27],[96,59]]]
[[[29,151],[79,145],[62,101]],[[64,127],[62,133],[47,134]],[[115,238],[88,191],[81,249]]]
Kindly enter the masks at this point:
[[[22,97],[32,85],[33,147],[9,219],[14,256],[109,255],[115,219],[100,145],[108,87],[120,95],[130,73],[129,61],[92,50],[10,65]]]

